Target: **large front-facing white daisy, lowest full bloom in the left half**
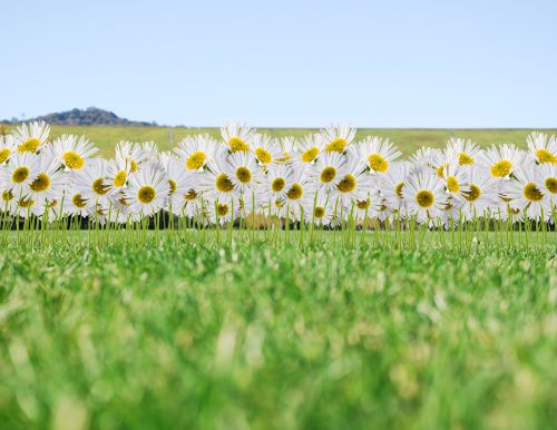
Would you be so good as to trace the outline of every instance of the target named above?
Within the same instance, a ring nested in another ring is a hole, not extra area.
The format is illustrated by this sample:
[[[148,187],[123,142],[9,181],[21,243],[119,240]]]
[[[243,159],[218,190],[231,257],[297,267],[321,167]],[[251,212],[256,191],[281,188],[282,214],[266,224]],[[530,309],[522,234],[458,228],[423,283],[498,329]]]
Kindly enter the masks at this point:
[[[129,175],[128,187],[124,190],[131,213],[149,216],[164,207],[170,186],[164,169],[156,164],[147,164]]]

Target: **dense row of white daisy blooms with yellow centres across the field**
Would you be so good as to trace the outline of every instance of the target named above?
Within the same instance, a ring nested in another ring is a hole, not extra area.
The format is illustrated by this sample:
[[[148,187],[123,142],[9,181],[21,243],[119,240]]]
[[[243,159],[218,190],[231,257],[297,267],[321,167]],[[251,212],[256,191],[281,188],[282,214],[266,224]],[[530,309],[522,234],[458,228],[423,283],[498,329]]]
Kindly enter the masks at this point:
[[[301,139],[272,138],[238,123],[221,131],[221,139],[199,134],[163,153],[153,141],[120,141],[107,160],[86,137],[50,139],[47,124],[22,124],[0,136],[2,217],[128,223],[167,211],[205,224],[254,213],[324,226],[555,221],[555,136],[530,134],[528,150],[451,138],[444,149],[423,147],[402,160],[389,139],[355,141],[350,126]]]

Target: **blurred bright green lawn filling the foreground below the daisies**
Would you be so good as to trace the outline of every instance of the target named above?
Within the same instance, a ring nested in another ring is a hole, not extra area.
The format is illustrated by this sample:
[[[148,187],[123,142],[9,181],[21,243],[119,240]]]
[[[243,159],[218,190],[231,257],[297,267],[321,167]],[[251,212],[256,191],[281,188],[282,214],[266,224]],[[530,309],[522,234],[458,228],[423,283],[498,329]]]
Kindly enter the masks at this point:
[[[223,246],[8,241],[0,428],[555,428],[555,242]]]

